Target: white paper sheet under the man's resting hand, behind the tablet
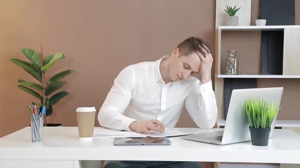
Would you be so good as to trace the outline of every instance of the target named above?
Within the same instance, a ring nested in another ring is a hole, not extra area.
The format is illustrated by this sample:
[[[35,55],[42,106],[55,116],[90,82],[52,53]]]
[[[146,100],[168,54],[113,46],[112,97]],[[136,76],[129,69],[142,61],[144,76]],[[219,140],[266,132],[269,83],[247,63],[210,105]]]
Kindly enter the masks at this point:
[[[116,131],[111,129],[94,129],[94,138],[124,138],[124,137],[173,137],[187,135],[173,128],[165,128],[164,133],[151,131],[150,134],[140,134],[132,131]]]

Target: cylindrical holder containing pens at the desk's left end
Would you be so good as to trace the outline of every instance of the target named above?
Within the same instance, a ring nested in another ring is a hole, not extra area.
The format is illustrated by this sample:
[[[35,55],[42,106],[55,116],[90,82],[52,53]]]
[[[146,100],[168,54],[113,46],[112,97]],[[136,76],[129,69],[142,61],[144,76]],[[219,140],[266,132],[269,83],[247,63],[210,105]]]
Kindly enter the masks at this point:
[[[31,117],[31,141],[40,142],[43,140],[43,126],[44,120],[43,117]]]

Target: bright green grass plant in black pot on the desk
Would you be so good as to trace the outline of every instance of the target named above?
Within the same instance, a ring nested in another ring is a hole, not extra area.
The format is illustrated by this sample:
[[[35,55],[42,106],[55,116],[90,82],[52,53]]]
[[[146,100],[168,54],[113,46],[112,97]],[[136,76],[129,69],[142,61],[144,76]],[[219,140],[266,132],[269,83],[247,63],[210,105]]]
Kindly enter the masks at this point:
[[[279,106],[275,106],[273,102],[269,103],[263,99],[247,99],[246,113],[249,121],[249,130],[252,145],[267,146],[271,124],[277,116]]]

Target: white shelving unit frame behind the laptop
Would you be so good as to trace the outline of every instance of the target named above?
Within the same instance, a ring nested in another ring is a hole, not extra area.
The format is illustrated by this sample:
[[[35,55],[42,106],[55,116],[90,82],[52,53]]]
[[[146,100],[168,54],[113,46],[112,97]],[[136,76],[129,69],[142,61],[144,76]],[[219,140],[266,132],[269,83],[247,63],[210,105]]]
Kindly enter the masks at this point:
[[[283,75],[225,75],[221,72],[221,34],[225,31],[284,31]],[[215,94],[218,102],[218,126],[224,126],[224,79],[300,79],[300,25],[289,26],[219,26],[215,31]],[[300,120],[277,120],[278,127],[300,127]]]

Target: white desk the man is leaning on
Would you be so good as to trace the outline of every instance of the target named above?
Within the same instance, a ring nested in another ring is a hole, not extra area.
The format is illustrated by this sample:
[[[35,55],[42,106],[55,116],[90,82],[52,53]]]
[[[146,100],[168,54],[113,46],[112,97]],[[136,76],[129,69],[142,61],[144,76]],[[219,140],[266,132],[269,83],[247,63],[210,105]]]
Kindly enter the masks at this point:
[[[292,130],[275,130],[268,146],[252,146],[251,141],[214,145],[180,137],[170,138],[168,146],[114,146],[113,139],[79,140],[77,127],[44,127],[43,131],[42,142],[31,142],[30,127],[1,138],[0,168],[80,168],[80,160],[300,164],[300,135]]]

